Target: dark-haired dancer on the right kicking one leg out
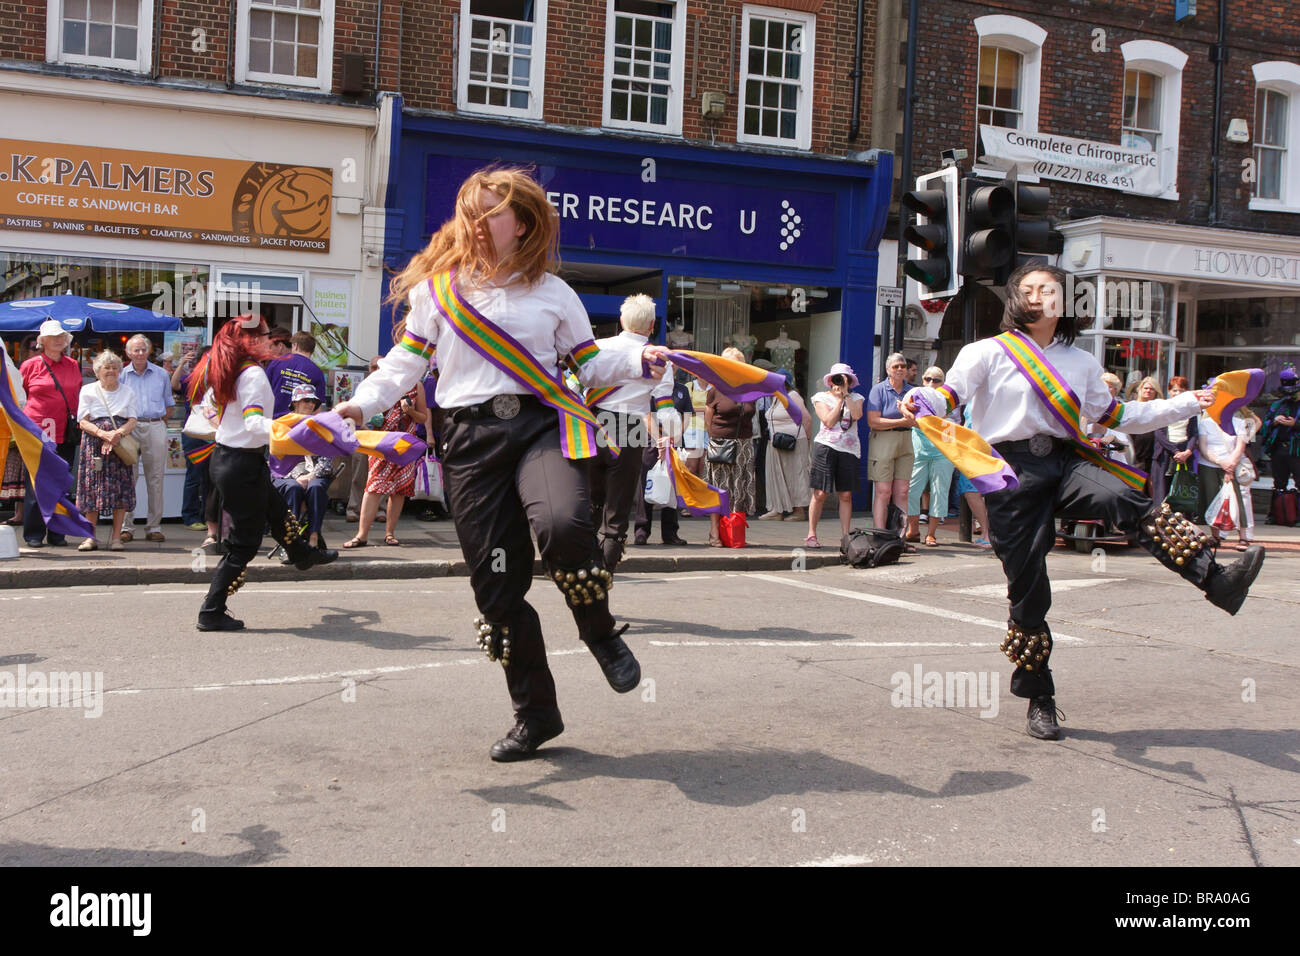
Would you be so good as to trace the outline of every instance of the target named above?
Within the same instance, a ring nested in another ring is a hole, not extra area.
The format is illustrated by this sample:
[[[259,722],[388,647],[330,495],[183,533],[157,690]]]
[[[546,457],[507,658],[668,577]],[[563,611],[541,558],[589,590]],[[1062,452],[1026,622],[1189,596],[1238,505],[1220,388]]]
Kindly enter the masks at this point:
[[[1101,381],[1101,365],[1072,347],[1079,326],[1062,310],[1066,274],[1024,265],[1006,285],[1002,333],[958,352],[948,380],[920,394],[940,415],[968,403],[971,428],[1006,459],[1019,486],[987,494],[989,540],[1006,574],[1011,610],[1002,652],[1015,665],[1011,693],[1030,698],[1030,736],[1058,740],[1056,685],[1048,658],[1052,606],[1046,557],[1056,544],[1054,516],[1102,518],[1138,536],[1162,564],[1236,614],[1260,566],[1253,546],[1231,566],[1212,554],[1209,538],[1182,514],[1153,506],[1145,476],[1106,459],[1080,433],[1080,418],[1126,433],[1150,432],[1210,407],[1212,392],[1122,403]],[[913,397],[901,403],[915,414]]]

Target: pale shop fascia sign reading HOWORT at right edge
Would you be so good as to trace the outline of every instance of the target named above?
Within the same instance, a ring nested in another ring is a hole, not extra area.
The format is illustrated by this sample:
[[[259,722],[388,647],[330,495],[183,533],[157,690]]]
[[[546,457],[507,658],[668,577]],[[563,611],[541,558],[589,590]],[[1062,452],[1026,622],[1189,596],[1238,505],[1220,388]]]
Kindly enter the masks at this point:
[[[1269,250],[1223,248],[1200,243],[1106,238],[1106,269],[1153,272],[1162,276],[1245,282],[1260,286],[1300,285],[1300,255]]]

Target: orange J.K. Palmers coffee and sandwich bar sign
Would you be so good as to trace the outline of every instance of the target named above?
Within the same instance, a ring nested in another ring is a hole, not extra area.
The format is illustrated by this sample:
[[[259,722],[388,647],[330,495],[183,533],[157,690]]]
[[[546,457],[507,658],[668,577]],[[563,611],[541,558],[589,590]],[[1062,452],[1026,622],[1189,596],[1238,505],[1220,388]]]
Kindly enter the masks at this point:
[[[329,252],[333,170],[0,139],[0,229]]]

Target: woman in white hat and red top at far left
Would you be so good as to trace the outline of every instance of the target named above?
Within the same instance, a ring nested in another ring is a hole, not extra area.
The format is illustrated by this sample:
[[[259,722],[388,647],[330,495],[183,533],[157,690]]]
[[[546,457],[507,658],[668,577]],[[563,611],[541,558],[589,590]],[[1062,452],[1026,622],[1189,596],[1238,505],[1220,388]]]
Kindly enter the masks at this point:
[[[47,319],[36,333],[36,354],[22,363],[22,386],[27,390],[27,414],[36,427],[57,445],[58,457],[68,462],[72,484],[72,462],[77,454],[81,429],[77,427],[77,397],[81,394],[81,365],[65,354],[73,337],[57,319]],[[36,507],[31,476],[26,477],[26,502],[22,537],[29,548],[42,548],[47,540],[46,519]],[[49,544],[58,548],[68,541],[49,532]]]

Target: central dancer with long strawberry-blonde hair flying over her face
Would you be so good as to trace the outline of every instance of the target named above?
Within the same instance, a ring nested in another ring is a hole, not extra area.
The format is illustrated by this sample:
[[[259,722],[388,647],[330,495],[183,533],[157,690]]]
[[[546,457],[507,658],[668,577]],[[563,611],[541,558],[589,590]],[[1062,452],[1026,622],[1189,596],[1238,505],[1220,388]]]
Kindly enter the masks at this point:
[[[360,423],[391,407],[437,347],[443,473],[482,615],[478,645],[503,665],[515,708],[495,761],[524,758],[564,730],[541,620],[525,600],[533,535],[610,685],[627,693],[641,683],[627,626],[610,614],[614,575],[592,524],[585,459],[598,436],[610,438],[559,368],[571,363],[585,388],[614,386],[662,376],[667,350],[598,349],[581,300],[554,274],[558,243],[555,209],[523,169],[472,174],[455,215],[393,282],[391,298],[411,303],[402,341],[335,408]]]

